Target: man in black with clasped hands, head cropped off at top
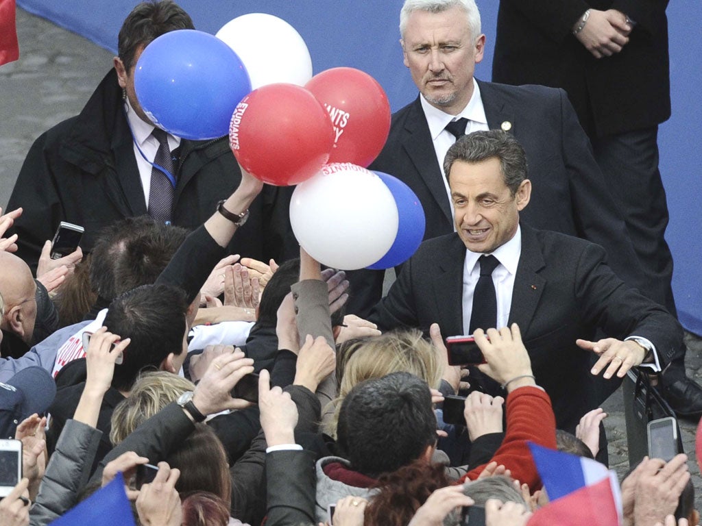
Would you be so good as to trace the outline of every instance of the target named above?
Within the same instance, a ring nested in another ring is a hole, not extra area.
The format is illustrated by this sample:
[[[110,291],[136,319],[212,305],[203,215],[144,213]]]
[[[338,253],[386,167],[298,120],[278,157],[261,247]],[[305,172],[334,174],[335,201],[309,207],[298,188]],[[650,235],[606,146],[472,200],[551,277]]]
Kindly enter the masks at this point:
[[[640,290],[676,316],[658,170],[658,124],[670,116],[667,7],[667,0],[501,0],[492,74],[567,91],[623,213],[643,271]],[[684,358],[666,370],[664,394],[680,416],[702,414],[702,389],[686,377]]]

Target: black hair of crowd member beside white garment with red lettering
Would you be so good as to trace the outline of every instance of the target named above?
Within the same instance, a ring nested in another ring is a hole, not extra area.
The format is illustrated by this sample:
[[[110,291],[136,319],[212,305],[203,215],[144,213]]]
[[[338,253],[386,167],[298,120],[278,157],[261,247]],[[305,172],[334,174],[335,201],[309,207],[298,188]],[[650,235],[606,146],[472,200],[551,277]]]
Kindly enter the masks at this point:
[[[185,292],[172,285],[143,285],[114,299],[105,327],[131,338],[123,362],[114,367],[114,389],[129,391],[140,372],[157,370],[168,354],[183,352],[187,306]]]

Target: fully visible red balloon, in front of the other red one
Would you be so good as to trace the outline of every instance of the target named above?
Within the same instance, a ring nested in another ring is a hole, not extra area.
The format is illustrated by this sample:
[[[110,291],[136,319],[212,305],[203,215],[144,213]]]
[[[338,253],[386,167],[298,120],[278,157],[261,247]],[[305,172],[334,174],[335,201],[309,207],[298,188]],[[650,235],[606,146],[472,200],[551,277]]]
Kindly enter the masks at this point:
[[[305,88],[268,84],[234,109],[229,144],[244,170],[282,187],[319,172],[329,161],[334,130],[322,104]]]

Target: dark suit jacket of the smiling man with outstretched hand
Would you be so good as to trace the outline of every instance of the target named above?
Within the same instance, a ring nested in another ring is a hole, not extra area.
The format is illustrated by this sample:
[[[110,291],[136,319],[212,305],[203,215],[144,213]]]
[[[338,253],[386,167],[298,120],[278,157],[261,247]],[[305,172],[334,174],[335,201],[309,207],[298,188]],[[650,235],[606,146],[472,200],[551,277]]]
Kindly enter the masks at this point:
[[[509,323],[517,323],[536,381],[550,395],[560,428],[574,430],[602,400],[592,383],[589,353],[576,346],[601,329],[608,337],[649,339],[663,362],[682,347],[682,328],[663,307],[629,288],[605,263],[601,247],[522,223],[522,255]],[[463,262],[458,234],[425,241],[373,309],[378,328],[439,323],[442,335],[463,333]]]

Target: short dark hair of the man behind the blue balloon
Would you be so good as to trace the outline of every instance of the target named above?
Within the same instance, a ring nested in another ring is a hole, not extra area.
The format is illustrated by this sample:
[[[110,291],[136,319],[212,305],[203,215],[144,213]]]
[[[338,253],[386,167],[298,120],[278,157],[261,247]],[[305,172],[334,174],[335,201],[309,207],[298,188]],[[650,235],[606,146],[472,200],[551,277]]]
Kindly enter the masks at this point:
[[[133,8],[117,36],[117,53],[126,72],[131,72],[140,46],[147,46],[162,34],[176,29],[195,27],[190,15],[173,0],[147,1]]]

